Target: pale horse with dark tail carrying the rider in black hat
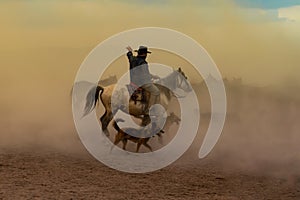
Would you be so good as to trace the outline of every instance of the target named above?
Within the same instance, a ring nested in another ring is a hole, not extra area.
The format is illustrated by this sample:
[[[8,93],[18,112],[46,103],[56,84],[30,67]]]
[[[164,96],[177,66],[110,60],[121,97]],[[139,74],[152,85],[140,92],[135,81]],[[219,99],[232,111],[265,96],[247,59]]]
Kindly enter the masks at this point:
[[[118,110],[122,110],[134,117],[142,119],[142,125],[144,126],[149,123],[149,118],[145,117],[148,115],[148,113],[145,113],[147,103],[132,99],[130,99],[128,103],[129,97],[126,97],[126,91],[124,91],[124,89],[120,89],[114,92],[115,86],[116,85],[113,84],[103,88],[98,85],[90,89],[86,96],[84,116],[95,108],[100,97],[105,108],[105,113],[101,116],[100,121],[102,130],[106,135],[109,135],[107,126]],[[168,76],[161,78],[156,83],[156,86],[160,90],[160,105],[162,105],[165,110],[168,110],[168,104],[172,95],[176,95],[173,93],[174,90],[181,89],[185,93],[192,91],[191,85],[187,81],[187,77],[181,68],[178,68],[178,70],[174,70]],[[117,99],[117,101],[113,103],[112,98]],[[112,110],[112,108],[114,108],[114,110]]]

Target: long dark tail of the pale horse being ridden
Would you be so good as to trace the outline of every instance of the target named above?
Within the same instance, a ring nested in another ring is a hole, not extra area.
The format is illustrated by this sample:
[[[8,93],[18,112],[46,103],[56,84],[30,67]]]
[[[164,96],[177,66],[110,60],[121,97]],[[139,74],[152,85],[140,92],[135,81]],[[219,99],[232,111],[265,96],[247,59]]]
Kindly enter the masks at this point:
[[[86,96],[86,103],[84,108],[83,117],[89,114],[96,106],[99,101],[99,96],[102,95],[104,88],[101,86],[94,86],[90,89]]]

